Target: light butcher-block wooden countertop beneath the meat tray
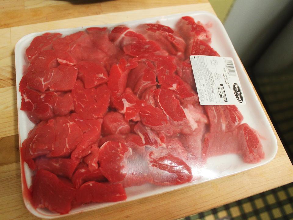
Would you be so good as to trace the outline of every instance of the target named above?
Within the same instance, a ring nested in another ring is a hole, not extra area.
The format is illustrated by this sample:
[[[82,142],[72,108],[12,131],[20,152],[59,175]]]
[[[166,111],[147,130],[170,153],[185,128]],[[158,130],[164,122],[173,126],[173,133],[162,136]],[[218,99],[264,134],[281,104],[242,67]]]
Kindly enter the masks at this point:
[[[36,31],[118,23],[196,10],[214,13],[206,0],[0,0],[0,219],[37,219],[25,208],[21,194],[14,63],[16,42]],[[177,219],[287,184],[293,181],[293,167],[278,136],[277,141],[276,157],[261,167],[63,219]]]

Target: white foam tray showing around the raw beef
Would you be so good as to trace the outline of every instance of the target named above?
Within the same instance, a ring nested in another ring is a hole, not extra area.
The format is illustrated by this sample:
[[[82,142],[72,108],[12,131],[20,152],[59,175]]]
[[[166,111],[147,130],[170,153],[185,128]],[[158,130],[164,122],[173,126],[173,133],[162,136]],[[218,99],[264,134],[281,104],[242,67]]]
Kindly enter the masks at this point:
[[[256,164],[249,164],[244,163],[242,160],[233,154],[227,154],[217,157],[209,158],[206,165],[201,169],[197,170],[193,168],[194,175],[201,175],[202,178],[191,183],[186,183],[182,185],[175,185],[175,186],[155,186],[155,185],[142,185],[142,186],[134,186],[126,188],[127,193],[127,200],[136,200],[146,196],[151,196],[159,193],[164,193],[167,191],[176,190],[182,188],[187,185],[199,184],[206,181],[211,181],[215,178],[224,177],[227,175],[239,173],[254,167],[258,167],[268,163],[269,161],[273,160],[277,153],[277,139],[273,133],[273,130],[269,124],[268,119],[255,95],[255,92],[248,80],[248,77],[245,73],[244,67],[241,64],[239,57],[232,45],[232,42],[229,39],[229,36],[226,33],[224,26],[222,25],[221,21],[213,14],[204,12],[204,11],[196,11],[196,12],[189,12],[189,13],[180,13],[180,14],[173,14],[168,16],[160,16],[154,17],[149,19],[142,19],[142,20],[135,20],[135,21],[128,21],[120,24],[124,24],[130,28],[136,27],[138,24],[143,23],[156,23],[160,22],[161,24],[170,26],[171,28],[175,27],[176,22],[182,16],[191,16],[194,18],[195,21],[201,21],[203,24],[208,24],[208,30],[212,34],[212,43],[211,46],[214,48],[220,56],[223,57],[232,57],[235,63],[235,67],[238,72],[238,76],[241,82],[242,91],[245,95],[246,105],[238,105],[240,112],[244,116],[245,123],[248,123],[251,127],[256,129],[261,137],[261,142],[263,146],[263,151],[265,153],[265,158]],[[86,25],[86,24],[85,24]],[[94,27],[108,27],[114,28],[119,24],[108,24],[108,25],[97,25]],[[24,111],[20,110],[21,105],[21,95],[19,92],[19,83],[23,76],[23,66],[26,65],[25,62],[25,50],[30,45],[31,41],[34,37],[38,35],[42,35],[46,32],[59,32],[65,35],[72,34],[77,31],[83,31],[87,27],[80,27],[80,28],[71,28],[71,29],[58,29],[58,30],[50,30],[50,31],[43,31],[38,33],[31,33],[29,35],[25,35],[22,37],[15,46],[15,64],[16,64],[16,92],[17,92],[17,107],[18,107],[18,128],[19,128],[19,138],[20,138],[20,147],[21,143],[27,138],[28,132],[34,127],[34,124],[28,119],[27,115]],[[93,27],[93,26],[90,26]],[[33,173],[28,168],[27,164],[24,161],[20,161],[21,163],[21,174],[22,174],[22,190],[23,195],[27,193],[27,189],[24,187],[24,181],[26,181],[27,185],[31,184],[31,175]],[[125,201],[116,202],[116,203],[93,203],[83,205],[78,208],[72,209],[66,215],[72,215],[79,212],[99,209],[102,207],[107,207],[117,203],[123,203]],[[35,209],[30,201],[24,196],[24,203],[27,209],[34,215],[41,217],[41,218],[57,218],[65,215],[60,215],[58,213],[52,213],[45,209]]]

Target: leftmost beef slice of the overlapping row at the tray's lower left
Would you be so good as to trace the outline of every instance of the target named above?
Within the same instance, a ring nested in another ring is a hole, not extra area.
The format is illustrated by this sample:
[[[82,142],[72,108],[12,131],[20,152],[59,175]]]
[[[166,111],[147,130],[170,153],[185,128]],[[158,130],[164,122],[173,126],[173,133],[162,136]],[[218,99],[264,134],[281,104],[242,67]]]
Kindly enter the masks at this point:
[[[38,156],[48,154],[54,149],[55,130],[54,120],[48,122],[40,122],[32,129],[27,136],[27,139],[22,143],[24,149],[24,160],[29,167],[34,170],[35,164],[32,160]]]

